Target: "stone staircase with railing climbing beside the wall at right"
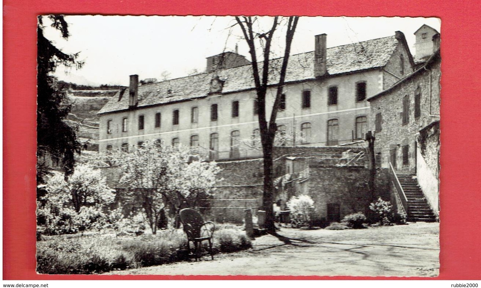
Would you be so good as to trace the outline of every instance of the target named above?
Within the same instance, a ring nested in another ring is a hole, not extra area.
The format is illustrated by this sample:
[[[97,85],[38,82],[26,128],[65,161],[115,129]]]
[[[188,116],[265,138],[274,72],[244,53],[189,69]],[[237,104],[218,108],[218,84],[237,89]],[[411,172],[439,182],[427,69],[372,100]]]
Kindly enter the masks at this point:
[[[408,222],[435,222],[436,216],[432,213],[428,201],[418,185],[415,174],[396,173],[399,183],[407,198]]]

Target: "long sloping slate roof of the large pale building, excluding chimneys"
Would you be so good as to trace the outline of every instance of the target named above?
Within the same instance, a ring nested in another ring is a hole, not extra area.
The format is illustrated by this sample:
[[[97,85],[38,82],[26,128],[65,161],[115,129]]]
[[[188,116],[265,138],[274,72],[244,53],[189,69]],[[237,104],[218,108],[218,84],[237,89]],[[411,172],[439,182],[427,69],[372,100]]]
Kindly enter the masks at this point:
[[[328,74],[339,75],[383,67],[391,58],[397,45],[398,40],[395,36],[390,36],[328,48]],[[273,68],[271,68],[268,83],[273,85],[278,81],[282,58],[273,59],[270,62]],[[259,63],[259,66],[262,67],[262,63]],[[247,64],[139,86],[137,108],[206,97],[210,92],[210,83],[215,74],[219,75],[221,80],[225,80],[223,94],[255,88],[252,66]],[[314,78],[313,51],[290,56],[286,83]],[[128,110],[128,89],[122,95],[120,96],[120,92],[117,92],[103,106],[99,114]]]

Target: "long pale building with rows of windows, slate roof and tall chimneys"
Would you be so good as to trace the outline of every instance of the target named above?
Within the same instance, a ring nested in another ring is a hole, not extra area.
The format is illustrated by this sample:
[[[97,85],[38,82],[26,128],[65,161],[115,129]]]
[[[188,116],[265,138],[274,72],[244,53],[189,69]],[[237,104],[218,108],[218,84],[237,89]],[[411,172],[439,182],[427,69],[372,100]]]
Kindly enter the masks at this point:
[[[278,145],[331,146],[364,138],[372,95],[413,72],[404,34],[396,32],[327,48],[325,34],[315,51],[292,55],[277,124]],[[267,114],[282,59],[274,59],[267,91]],[[225,52],[207,58],[206,72],[139,85],[130,76],[101,109],[100,151],[135,149],[146,140],[198,148],[210,159],[260,156],[252,67],[245,57]]]

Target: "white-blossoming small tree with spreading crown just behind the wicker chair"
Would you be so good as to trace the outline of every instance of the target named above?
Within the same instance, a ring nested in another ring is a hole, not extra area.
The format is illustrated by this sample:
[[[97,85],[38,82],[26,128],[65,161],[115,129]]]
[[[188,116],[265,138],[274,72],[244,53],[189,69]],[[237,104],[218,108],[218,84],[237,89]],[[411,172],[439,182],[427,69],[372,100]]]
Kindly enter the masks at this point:
[[[120,182],[128,189],[127,198],[142,207],[152,234],[165,207],[194,207],[201,196],[213,193],[220,168],[215,162],[190,161],[191,156],[186,148],[151,141],[132,152],[114,152],[124,171]]]

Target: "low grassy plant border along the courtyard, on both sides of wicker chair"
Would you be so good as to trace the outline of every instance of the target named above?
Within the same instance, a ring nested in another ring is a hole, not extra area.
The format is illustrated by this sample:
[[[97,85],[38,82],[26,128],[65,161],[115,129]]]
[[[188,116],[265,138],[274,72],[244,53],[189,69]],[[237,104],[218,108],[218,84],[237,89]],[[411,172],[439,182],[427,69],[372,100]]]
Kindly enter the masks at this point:
[[[214,247],[215,251],[233,252],[248,249],[252,243],[241,227],[220,226],[214,233]],[[96,274],[188,259],[187,238],[182,229],[125,237],[55,236],[37,242],[37,272],[41,274]]]

